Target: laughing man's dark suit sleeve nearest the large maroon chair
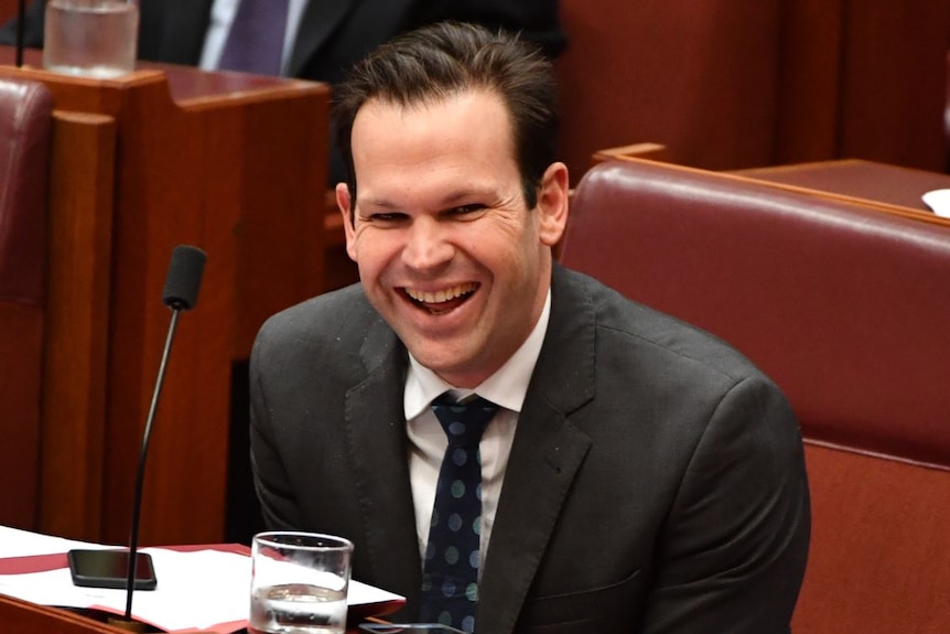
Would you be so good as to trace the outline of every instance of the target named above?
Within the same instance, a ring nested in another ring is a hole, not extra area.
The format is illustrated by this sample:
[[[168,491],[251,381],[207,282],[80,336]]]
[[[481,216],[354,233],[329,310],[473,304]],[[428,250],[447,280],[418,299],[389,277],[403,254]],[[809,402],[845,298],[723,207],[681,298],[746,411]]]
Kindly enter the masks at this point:
[[[789,632],[811,523],[800,431],[773,384],[724,396],[667,526],[645,633]]]

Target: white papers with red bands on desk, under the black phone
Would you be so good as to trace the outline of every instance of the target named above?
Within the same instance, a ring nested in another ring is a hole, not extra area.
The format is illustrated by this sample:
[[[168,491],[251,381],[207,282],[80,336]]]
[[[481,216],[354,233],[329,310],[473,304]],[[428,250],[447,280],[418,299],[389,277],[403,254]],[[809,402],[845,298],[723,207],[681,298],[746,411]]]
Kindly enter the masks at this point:
[[[0,526],[0,593],[42,605],[123,614],[126,591],[73,584],[65,552],[109,548]],[[159,585],[136,591],[132,615],[165,632],[229,634],[247,625],[250,557],[239,545],[142,548]],[[349,610],[360,617],[392,612],[404,599],[350,581]]]

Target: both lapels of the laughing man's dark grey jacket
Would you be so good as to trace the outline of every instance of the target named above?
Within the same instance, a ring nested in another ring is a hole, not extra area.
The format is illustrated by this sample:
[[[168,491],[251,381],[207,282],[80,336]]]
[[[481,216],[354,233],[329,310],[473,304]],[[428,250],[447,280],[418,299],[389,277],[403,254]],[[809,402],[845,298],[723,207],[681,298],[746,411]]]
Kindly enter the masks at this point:
[[[551,321],[505,474],[477,615],[478,628],[514,632],[518,615],[590,438],[570,416],[594,394],[592,301],[579,278],[555,267]],[[346,395],[346,429],[363,508],[373,579],[419,605],[421,565],[407,463],[402,390],[406,351],[382,322],[370,329],[360,352],[367,378]]]

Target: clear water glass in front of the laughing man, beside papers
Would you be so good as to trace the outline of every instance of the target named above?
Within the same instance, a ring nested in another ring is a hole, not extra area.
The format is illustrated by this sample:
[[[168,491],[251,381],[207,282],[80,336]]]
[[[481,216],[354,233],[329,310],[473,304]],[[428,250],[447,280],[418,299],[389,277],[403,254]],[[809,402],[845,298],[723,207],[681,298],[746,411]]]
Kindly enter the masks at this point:
[[[250,634],[343,634],[353,542],[259,533],[251,544]]]

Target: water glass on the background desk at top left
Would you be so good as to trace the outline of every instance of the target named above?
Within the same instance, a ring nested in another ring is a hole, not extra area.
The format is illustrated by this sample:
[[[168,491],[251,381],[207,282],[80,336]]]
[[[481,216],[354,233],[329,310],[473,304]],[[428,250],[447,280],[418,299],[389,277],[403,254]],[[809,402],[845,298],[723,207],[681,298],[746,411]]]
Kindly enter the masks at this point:
[[[43,67],[108,78],[136,67],[139,7],[128,0],[48,0]]]

